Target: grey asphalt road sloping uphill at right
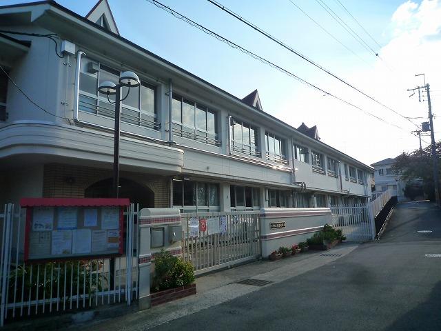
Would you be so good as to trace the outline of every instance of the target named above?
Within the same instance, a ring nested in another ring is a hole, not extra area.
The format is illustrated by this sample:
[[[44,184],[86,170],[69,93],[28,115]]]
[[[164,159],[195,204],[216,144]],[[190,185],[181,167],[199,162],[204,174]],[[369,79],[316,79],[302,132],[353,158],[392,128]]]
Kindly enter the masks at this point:
[[[425,254],[441,254],[441,210],[400,204],[380,241],[154,330],[441,330],[441,258]]]

